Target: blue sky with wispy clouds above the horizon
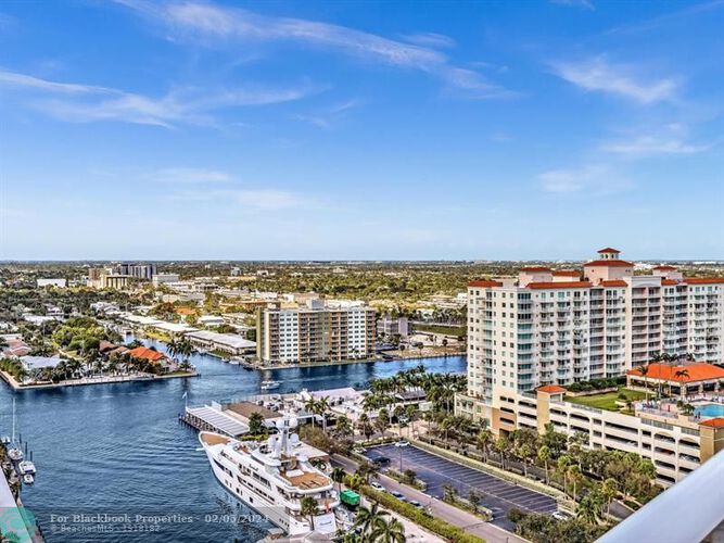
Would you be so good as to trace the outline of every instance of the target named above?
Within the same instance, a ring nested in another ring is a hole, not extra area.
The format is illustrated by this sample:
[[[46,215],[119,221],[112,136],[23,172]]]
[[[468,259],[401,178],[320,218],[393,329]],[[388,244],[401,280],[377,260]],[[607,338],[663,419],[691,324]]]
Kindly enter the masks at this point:
[[[724,1],[0,4],[0,258],[724,257]]]

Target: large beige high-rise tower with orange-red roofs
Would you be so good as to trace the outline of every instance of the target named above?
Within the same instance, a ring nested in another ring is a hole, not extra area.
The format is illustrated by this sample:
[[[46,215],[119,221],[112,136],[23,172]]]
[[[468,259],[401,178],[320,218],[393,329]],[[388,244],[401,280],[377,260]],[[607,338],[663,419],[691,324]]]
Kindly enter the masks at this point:
[[[615,249],[582,270],[523,268],[468,287],[468,393],[499,393],[621,376],[657,353],[724,363],[724,278],[672,266],[634,275]]]

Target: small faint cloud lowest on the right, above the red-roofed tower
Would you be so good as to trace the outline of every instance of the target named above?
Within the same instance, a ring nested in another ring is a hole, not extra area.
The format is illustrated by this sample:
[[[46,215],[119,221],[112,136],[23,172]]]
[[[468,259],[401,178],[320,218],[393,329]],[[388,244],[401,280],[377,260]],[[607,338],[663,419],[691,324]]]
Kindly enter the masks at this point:
[[[544,191],[554,193],[611,194],[633,187],[631,179],[602,164],[550,169],[537,178]]]

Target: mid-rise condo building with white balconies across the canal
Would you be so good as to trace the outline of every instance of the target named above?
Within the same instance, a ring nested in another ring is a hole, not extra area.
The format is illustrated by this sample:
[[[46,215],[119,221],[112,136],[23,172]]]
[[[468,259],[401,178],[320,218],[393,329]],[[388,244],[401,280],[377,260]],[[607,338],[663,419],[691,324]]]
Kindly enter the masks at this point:
[[[257,313],[256,354],[266,364],[308,364],[374,355],[376,313],[363,302],[307,299]]]

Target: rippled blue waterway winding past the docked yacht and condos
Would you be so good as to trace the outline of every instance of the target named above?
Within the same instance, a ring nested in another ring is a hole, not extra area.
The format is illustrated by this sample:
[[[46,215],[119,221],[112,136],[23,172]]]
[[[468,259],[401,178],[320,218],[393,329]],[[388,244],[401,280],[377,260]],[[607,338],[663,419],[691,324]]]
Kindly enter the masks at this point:
[[[265,379],[281,381],[279,392],[294,392],[360,388],[372,377],[420,363],[431,371],[466,367],[462,356],[266,371],[245,370],[204,354],[194,355],[192,363],[202,377],[18,392],[0,384],[0,433],[10,433],[14,396],[20,433],[38,468],[35,485],[23,490],[23,502],[40,520],[49,542],[245,542],[264,536],[270,526],[250,519],[253,513],[224,491],[205,455],[196,451],[195,431],[177,422],[185,392],[190,405],[199,405],[259,393]],[[131,522],[91,519],[82,525],[51,517],[74,514],[129,514]],[[137,514],[191,518],[136,522]],[[96,531],[80,533],[79,527]],[[107,527],[154,531],[98,531]],[[62,531],[68,529],[76,531]]]

